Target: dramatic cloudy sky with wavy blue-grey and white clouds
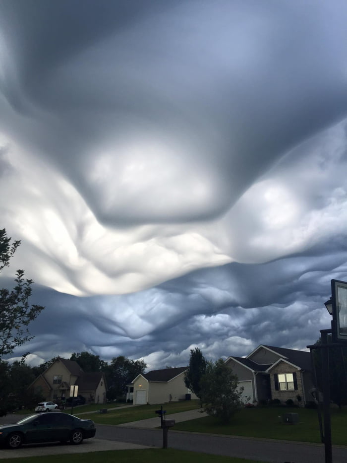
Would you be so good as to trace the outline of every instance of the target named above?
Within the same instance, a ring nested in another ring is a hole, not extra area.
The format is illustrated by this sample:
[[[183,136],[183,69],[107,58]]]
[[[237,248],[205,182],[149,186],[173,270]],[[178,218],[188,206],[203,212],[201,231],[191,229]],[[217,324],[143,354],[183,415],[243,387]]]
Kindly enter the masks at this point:
[[[40,364],[305,349],[347,280],[347,3],[1,0],[0,276]]]

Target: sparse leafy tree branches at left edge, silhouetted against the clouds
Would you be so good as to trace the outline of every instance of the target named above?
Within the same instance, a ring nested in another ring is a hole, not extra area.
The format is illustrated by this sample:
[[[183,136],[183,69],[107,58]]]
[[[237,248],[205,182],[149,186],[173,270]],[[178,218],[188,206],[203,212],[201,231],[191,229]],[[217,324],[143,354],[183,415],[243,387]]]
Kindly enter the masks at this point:
[[[6,230],[0,230],[0,272],[9,261],[20,241],[10,243]],[[0,357],[13,352],[14,348],[32,339],[28,331],[30,322],[36,319],[44,307],[30,306],[32,280],[24,279],[24,270],[16,271],[15,287],[12,290],[0,289]]]

